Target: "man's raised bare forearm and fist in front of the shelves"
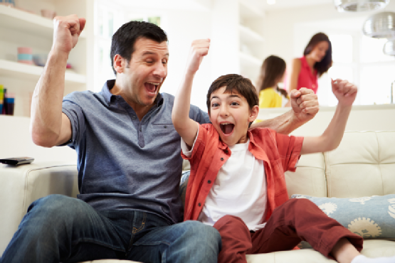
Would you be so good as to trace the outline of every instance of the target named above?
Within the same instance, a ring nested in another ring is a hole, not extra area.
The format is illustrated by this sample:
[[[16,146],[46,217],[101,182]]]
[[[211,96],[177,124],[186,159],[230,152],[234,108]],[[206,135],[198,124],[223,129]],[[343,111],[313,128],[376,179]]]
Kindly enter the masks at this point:
[[[53,23],[53,45],[31,102],[31,137],[35,144],[45,147],[63,144],[72,135],[70,119],[62,112],[65,68],[68,54],[85,27],[85,18],[57,16]]]

